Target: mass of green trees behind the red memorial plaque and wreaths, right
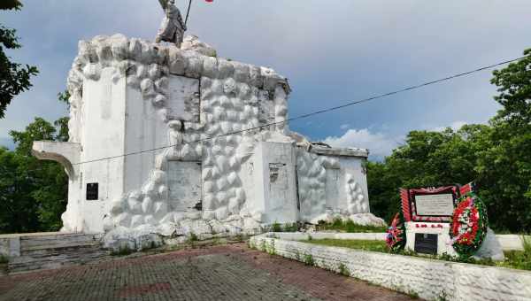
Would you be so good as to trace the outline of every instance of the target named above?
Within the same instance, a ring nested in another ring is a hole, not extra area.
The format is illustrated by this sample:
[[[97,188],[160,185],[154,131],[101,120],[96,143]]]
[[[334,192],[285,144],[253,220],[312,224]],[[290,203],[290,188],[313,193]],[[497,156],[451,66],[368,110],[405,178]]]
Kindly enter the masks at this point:
[[[390,220],[400,210],[399,188],[476,181],[493,228],[531,229],[531,50],[524,53],[493,73],[503,107],[489,125],[412,131],[383,162],[369,163],[375,214]]]

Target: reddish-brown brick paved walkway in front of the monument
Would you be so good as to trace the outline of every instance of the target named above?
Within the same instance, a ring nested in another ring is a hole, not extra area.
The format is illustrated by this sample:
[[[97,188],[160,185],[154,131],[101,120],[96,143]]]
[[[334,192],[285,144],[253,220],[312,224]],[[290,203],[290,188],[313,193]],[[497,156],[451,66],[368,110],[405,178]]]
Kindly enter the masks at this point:
[[[410,300],[243,243],[0,276],[0,300]]]

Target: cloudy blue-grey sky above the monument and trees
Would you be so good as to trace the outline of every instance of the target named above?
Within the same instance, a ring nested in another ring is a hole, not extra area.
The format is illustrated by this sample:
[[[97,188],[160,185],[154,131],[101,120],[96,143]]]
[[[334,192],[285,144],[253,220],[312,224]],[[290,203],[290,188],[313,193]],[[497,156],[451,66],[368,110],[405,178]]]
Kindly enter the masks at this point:
[[[163,12],[157,0],[23,0],[21,12],[0,12],[18,30],[15,61],[38,66],[34,87],[16,97],[0,120],[9,130],[36,116],[66,114],[57,94],[77,43],[121,33],[152,39]],[[188,1],[179,1],[186,10]],[[289,114],[345,104],[510,58],[531,48],[531,1],[194,0],[189,34],[219,56],[273,67],[289,78]],[[498,106],[491,72],[432,85],[329,112],[290,127],[313,140],[371,149],[381,158],[412,129],[487,122]]]

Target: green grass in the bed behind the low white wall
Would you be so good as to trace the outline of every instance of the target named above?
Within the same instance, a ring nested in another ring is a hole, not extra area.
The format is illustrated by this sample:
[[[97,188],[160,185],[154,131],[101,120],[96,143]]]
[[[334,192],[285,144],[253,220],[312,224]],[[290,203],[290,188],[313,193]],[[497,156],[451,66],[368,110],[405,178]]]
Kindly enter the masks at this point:
[[[383,253],[389,253],[389,249],[384,241],[372,241],[372,240],[348,240],[348,239],[312,239],[301,241],[302,243],[313,243],[319,245],[325,245],[329,247],[342,247],[350,248],[361,251],[377,251]],[[458,257],[450,257],[448,255],[442,256],[428,256],[424,254],[418,254],[413,251],[402,251],[399,253],[404,256],[421,257],[428,259],[438,259],[444,261],[468,263],[481,266],[502,266],[508,268],[515,268],[520,270],[531,271],[531,240],[524,240],[524,251],[505,251],[505,261],[495,262],[490,259],[476,260],[473,258],[461,259]]]

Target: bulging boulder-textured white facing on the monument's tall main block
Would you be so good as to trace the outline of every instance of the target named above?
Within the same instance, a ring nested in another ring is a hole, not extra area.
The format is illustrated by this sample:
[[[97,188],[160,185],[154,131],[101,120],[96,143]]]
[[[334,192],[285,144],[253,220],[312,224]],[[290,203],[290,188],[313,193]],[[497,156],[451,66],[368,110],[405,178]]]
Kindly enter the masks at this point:
[[[283,124],[262,131],[242,130],[286,120],[288,82],[271,69],[204,56],[199,52],[209,53],[204,50],[207,46],[197,41],[189,44],[201,51],[180,50],[123,35],[98,36],[80,42],[80,55],[75,58],[68,79],[72,95],[70,141],[81,141],[83,81],[98,81],[102,71],[111,67],[112,81],[127,77],[127,86],[140,90],[144,101],[157,108],[158,117],[167,124],[169,144],[173,146],[159,151],[142,188],[127,192],[108,206],[106,231],[121,235],[135,228],[136,232],[144,233],[200,235],[260,225],[259,212],[241,210],[246,193],[238,176],[240,167],[250,158],[258,141],[292,140],[284,135]],[[174,119],[172,108],[167,105],[168,82],[175,75],[200,80],[200,97],[185,100],[189,119]],[[197,119],[199,122],[195,122]],[[213,136],[217,137],[208,139]],[[203,213],[172,211],[166,186],[169,161],[201,163]],[[217,220],[229,227],[223,227]]]

